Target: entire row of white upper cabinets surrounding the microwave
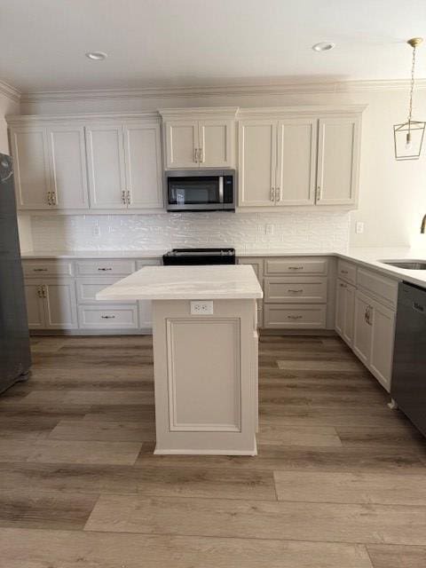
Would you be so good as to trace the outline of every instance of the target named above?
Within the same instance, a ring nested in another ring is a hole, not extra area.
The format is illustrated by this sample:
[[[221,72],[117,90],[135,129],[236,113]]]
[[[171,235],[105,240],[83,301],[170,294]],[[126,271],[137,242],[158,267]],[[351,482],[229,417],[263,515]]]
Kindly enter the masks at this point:
[[[10,117],[17,206],[94,214],[163,209],[164,169],[235,168],[238,146],[241,210],[354,209],[362,110],[206,107]]]

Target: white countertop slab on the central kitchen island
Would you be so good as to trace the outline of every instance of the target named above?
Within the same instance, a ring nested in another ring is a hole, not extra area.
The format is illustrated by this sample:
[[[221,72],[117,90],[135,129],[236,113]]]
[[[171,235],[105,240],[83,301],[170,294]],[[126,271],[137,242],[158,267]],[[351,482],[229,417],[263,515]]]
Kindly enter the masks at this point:
[[[98,300],[214,300],[261,298],[247,264],[145,266],[101,290]]]

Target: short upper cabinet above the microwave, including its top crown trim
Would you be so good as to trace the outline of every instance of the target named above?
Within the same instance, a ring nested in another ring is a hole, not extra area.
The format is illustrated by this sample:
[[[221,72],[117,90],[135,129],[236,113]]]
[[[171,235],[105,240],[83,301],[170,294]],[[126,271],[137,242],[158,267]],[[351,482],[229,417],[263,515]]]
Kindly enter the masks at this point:
[[[166,109],[165,167],[233,168],[237,108]]]

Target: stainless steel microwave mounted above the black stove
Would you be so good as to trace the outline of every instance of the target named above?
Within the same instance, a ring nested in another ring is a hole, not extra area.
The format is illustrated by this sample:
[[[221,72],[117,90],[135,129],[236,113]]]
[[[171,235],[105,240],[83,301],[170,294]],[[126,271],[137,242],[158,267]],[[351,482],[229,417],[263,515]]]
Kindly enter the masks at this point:
[[[166,171],[168,211],[234,211],[234,170]]]

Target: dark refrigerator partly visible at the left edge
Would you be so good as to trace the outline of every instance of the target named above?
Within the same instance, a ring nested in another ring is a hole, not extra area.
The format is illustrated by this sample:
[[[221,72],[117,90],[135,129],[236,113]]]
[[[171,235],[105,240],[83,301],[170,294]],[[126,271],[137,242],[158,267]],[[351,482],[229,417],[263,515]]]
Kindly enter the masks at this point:
[[[12,160],[0,154],[0,393],[25,380],[30,365]]]

